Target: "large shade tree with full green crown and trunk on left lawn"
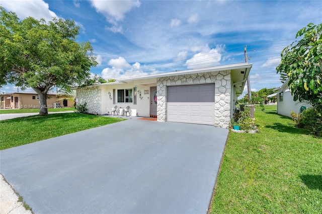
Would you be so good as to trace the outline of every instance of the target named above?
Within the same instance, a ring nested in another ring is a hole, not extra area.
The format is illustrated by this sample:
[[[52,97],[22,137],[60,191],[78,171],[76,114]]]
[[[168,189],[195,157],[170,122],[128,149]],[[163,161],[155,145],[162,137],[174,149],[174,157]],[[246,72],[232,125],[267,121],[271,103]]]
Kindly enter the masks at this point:
[[[90,68],[97,65],[96,58],[89,42],[76,41],[78,30],[73,20],[20,20],[0,7],[0,86],[33,88],[45,115],[51,88],[92,83]]]

